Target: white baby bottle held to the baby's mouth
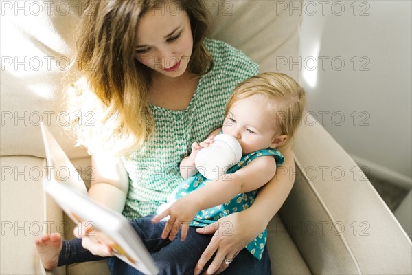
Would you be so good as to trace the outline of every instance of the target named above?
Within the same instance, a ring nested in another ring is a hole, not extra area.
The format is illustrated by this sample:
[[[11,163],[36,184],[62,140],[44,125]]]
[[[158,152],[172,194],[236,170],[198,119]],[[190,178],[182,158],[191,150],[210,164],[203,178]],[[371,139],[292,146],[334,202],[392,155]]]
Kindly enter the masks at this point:
[[[218,179],[227,169],[240,162],[242,147],[231,135],[222,133],[216,135],[214,142],[202,148],[194,159],[199,173],[207,179]]]

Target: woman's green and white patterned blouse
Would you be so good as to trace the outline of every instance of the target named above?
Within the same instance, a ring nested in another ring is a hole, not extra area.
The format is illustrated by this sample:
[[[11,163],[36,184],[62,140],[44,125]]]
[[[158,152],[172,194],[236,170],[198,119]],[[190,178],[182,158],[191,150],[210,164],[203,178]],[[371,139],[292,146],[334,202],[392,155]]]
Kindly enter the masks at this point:
[[[155,214],[183,177],[179,164],[190,154],[193,142],[201,142],[220,127],[225,104],[234,87],[258,74],[259,68],[240,50],[227,43],[206,39],[205,47],[214,68],[201,76],[187,108],[172,111],[152,105],[155,135],[123,163],[129,175],[129,190],[123,214],[128,219]]]

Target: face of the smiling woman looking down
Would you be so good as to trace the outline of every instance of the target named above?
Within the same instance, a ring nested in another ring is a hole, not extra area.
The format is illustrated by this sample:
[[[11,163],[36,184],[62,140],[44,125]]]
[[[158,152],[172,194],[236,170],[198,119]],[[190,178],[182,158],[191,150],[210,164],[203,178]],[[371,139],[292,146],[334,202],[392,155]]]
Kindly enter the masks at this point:
[[[139,19],[135,56],[164,76],[181,76],[193,50],[190,19],[185,10],[152,9]]]

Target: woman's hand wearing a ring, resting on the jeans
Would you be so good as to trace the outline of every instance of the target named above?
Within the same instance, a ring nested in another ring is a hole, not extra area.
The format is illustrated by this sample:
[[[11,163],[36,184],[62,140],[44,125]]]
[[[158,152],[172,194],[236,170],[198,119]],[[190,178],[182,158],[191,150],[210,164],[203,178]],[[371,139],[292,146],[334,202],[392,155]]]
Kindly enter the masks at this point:
[[[225,259],[232,261],[248,243],[262,233],[266,224],[262,224],[258,219],[253,218],[247,210],[230,214],[207,225],[204,228],[198,228],[196,231],[200,234],[213,234],[211,241],[201,259],[199,259],[194,274],[200,274],[207,261],[215,254],[205,274],[219,274],[229,264]]]

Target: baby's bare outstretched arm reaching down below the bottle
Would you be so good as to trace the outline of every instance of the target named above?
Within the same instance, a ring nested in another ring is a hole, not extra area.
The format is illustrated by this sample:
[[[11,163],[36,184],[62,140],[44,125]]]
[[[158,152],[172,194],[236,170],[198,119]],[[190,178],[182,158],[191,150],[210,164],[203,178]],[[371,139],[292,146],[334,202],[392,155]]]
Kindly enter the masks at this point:
[[[211,181],[206,186],[177,200],[153,221],[157,222],[170,216],[161,235],[162,238],[169,236],[169,239],[174,239],[182,226],[181,239],[184,240],[188,226],[198,211],[218,206],[239,193],[250,192],[264,186],[273,178],[275,172],[274,157],[262,156],[253,159],[250,164],[235,173],[222,175],[218,180]]]

